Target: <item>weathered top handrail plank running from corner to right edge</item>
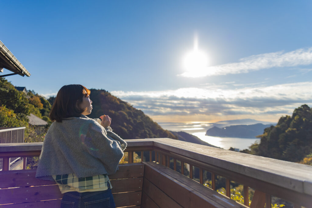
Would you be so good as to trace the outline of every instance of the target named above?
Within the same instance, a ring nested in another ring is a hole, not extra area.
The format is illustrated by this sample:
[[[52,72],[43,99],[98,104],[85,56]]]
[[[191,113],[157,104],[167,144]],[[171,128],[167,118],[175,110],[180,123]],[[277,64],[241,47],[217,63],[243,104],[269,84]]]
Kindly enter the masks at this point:
[[[148,139],[155,148],[177,153],[242,175],[312,195],[312,166],[228,151],[168,138]],[[287,171],[276,172],[276,170]]]

